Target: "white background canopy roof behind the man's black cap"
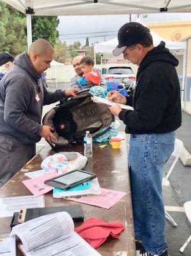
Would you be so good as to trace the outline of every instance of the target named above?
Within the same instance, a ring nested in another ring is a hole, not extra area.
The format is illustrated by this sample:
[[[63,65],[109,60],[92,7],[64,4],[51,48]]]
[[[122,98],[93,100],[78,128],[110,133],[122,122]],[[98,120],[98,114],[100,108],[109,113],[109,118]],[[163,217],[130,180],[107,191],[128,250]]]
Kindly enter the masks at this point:
[[[146,26],[141,19],[137,19],[136,22],[141,23]],[[157,46],[161,41],[165,42],[165,46],[170,50],[186,49],[186,42],[173,42],[162,38],[162,36],[157,35],[154,31],[150,30],[151,36],[153,37],[153,45]],[[118,45],[118,38],[113,38],[111,40],[105,41],[100,44],[94,44],[94,51],[100,53],[112,52],[114,48]]]

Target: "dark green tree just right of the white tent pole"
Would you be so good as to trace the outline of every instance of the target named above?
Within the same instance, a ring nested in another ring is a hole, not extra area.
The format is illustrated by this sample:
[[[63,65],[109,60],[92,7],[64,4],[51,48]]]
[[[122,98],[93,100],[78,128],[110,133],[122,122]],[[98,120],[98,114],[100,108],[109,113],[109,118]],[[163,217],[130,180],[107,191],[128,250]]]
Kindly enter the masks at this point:
[[[32,16],[33,41],[43,38],[56,45],[59,36],[56,29],[58,24],[57,16]]]

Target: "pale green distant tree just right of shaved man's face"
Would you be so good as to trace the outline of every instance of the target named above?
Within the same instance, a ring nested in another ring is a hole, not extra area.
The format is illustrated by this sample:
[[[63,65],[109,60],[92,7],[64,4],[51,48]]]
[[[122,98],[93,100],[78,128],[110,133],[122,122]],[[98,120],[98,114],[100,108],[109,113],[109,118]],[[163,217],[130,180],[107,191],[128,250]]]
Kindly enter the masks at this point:
[[[66,42],[61,42],[60,40],[54,45],[54,60],[61,63],[65,63],[68,59],[71,58],[70,51],[66,45]]]

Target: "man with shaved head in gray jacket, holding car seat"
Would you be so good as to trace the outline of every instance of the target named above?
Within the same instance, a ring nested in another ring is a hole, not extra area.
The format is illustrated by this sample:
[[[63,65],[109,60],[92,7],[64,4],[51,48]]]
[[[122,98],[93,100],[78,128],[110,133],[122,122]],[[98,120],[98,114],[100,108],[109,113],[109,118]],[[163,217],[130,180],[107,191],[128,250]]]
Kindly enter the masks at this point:
[[[73,95],[77,89],[48,92],[40,74],[50,68],[53,48],[38,39],[15,58],[0,84],[0,187],[35,154],[35,143],[54,138],[52,127],[41,125],[42,107]]]

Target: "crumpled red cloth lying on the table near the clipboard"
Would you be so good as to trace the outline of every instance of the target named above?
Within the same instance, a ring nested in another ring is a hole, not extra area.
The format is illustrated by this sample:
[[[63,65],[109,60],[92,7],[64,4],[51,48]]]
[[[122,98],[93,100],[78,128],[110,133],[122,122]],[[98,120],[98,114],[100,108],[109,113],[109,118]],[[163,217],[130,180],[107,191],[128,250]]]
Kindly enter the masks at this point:
[[[90,218],[80,227],[75,228],[82,238],[84,238],[91,246],[98,248],[109,235],[119,238],[119,234],[125,227],[119,222],[106,222],[97,218]]]

